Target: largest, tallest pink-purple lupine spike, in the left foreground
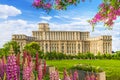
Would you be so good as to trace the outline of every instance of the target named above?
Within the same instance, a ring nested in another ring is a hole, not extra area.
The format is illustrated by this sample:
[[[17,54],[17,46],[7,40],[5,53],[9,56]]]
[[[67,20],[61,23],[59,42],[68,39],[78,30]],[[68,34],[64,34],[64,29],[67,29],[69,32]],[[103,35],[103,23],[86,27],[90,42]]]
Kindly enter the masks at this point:
[[[6,75],[7,80],[18,80],[18,65],[15,55],[9,55],[7,58]]]

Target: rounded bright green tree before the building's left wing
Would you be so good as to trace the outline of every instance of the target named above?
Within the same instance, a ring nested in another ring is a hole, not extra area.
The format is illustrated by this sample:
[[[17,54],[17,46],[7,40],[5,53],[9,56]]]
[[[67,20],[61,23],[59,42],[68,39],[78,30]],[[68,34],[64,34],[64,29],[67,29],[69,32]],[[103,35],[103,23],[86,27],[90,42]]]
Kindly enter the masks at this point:
[[[40,51],[40,45],[37,42],[30,42],[25,45],[24,50],[35,56],[36,52]]]

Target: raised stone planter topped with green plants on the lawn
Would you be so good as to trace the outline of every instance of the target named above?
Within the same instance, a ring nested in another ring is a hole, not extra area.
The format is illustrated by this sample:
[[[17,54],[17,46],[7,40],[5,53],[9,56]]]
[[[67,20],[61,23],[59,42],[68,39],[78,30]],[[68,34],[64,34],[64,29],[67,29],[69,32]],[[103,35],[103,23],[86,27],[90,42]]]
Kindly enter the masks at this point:
[[[105,72],[100,67],[78,64],[71,68],[72,73],[77,70],[80,80],[106,80]]]

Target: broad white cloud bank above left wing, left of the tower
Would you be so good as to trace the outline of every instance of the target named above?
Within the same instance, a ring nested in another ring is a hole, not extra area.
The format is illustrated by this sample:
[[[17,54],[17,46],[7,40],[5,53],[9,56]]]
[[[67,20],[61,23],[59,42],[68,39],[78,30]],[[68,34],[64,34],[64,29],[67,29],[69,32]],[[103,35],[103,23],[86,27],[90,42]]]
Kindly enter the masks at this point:
[[[37,23],[30,24],[25,20],[8,20],[0,23],[0,47],[11,40],[12,34],[32,35],[32,31],[37,30]]]

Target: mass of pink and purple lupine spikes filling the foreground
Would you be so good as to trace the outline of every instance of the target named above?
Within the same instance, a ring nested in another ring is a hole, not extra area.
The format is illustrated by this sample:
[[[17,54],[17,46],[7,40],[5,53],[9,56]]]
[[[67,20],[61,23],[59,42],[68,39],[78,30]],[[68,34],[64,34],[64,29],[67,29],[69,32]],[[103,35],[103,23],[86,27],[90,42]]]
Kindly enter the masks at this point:
[[[38,54],[38,53],[37,53]],[[30,54],[23,53],[22,63],[20,61],[20,55],[10,54],[7,59],[0,58],[0,79],[2,80],[59,80],[59,71],[51,71],[46,74],[47,66],[46,62],[42,64],[36,54],[35,65]],[[7,60],[7,61],[6,61]],[[37,66],[36,66],[37,65]],[[42,66],[44,65],[44,66]],[[85,67],[86,68],[86,67]],[[76,68],[77,69],[77,68]],[[89,75],[90,78],[91,75]],[[96,78],[96,77],[94,77]],[[66,69],[63,71],[63,80],[78,80],[78,71],[74,71],[71,75],[68,75]],[[87,79],[85,79],[87,80]]]

